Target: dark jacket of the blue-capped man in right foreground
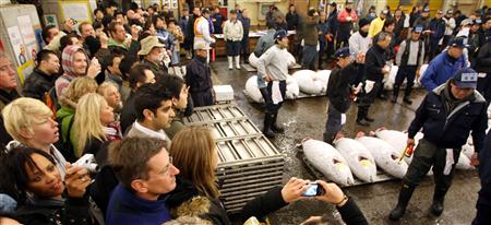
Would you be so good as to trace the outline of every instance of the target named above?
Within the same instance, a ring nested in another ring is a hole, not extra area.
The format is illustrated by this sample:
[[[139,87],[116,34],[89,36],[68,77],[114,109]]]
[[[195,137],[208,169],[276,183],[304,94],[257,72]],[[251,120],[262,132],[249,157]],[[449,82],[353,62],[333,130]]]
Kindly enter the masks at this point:
[[[467,142],[472,131],[475,150],[480,152],[488,127],[484,98],[479,92],[474,92],[468,99],[447,111],[446,100],[443,100],[445,88],[450,88],[450,81],[427,94],[409,126],[408,137],[414,139],[422,128],[424,139],[434,145],[457,149]]]

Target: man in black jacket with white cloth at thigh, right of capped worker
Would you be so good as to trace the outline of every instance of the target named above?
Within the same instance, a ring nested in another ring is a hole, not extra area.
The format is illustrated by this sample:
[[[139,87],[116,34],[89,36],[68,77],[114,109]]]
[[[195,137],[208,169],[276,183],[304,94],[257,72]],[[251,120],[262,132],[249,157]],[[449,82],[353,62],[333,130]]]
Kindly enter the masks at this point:
[[[386,32],[379,33],[379,39],[375,45],[370,47],[366,55],[366,81],[364,81],[364,95],[360,98],[358,103],[358,116],[357,123],[361,126],[369,126],[369,122],[374,120],[368,117],[368,111],[370,106],[375,100],[376,94],[382,86],[382,80],[384,75],[391,70],[386,66],[386,49],[391,45],[392,34]]]

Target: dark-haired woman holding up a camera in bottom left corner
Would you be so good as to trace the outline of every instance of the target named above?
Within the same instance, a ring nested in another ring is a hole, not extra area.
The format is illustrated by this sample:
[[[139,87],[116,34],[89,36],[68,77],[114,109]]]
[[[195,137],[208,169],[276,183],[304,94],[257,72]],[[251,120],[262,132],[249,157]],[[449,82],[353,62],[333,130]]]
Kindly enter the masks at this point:
[[[15,214],[23,224],[91,224],[85,168],[67,164],[62,177],[49,153],[26,146],[12,149],[2,159],[9,171],[2,179],[19,193]]]

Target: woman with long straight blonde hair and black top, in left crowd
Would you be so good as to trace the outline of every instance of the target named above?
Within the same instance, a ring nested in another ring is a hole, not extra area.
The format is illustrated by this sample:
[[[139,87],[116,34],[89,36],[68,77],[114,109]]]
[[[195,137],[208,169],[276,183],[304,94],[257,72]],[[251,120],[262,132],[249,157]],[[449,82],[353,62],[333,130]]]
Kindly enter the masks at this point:
[[[96,93],[88,93],[79,100],[73,122],[73,132],[77,138],[75,156],[91,153],[97,155],[106,141],[120,140],[121,132],[110,127],[115,121],[112,107]]]

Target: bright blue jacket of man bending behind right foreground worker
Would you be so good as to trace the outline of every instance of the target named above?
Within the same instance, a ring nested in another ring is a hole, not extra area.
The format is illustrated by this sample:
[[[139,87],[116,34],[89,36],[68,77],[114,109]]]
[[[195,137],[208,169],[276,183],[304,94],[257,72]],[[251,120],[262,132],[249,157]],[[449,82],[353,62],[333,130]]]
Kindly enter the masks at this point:
[[[445,83],[458,70],[467,64],[464,55],[453,62],[447,51],[443,51],[433,58],[421,76],[421,84],[428,92]]]

